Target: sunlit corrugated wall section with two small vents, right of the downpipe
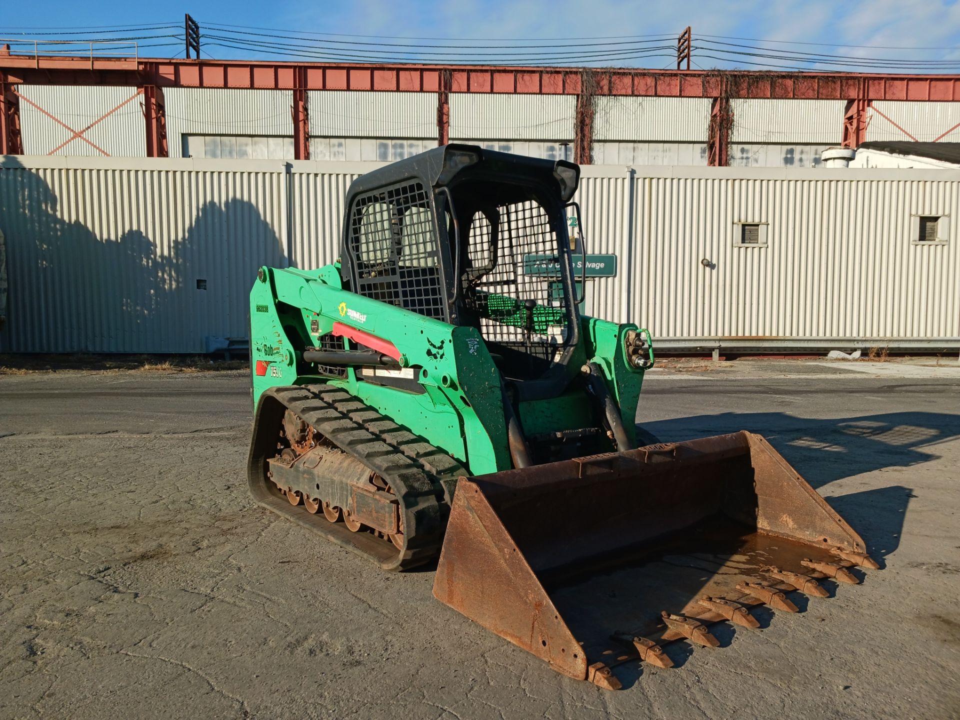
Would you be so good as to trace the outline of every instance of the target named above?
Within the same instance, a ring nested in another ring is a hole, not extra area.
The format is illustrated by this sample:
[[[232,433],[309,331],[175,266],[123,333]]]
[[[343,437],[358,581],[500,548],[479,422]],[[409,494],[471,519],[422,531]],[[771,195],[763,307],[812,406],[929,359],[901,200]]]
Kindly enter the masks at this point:
[[[700,173],[636,180],[632,309],[655,336],[960,338],[956,228],[910,239],[912,214],[957,214],[960,173]],[[735,247],[737,221],[768,223],[767,247]]]

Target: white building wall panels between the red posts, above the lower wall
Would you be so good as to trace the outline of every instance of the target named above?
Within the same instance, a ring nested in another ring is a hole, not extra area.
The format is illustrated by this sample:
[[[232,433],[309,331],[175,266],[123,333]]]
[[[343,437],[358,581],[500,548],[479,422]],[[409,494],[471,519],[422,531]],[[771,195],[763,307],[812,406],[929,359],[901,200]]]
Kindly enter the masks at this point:
[[[136,87],[24,84],[18,92],[25,154],[146,156]],[[574,156],[574,95],[449,97],[451,140],[525,155]],[[170,156],[292,159],[292,103],[291,90],[167,88]],[[597,164],[707,165],[709,99],[605,95],[595,103]],[[730,164],[816,167],[820,153],[841,141],[844,105],[733,100]],[[434,93],[311,90],[309,107],[314,159],[395,160],[437,144]],[[876,101],[868,113],[868,141],[960,140],[960,102]]]

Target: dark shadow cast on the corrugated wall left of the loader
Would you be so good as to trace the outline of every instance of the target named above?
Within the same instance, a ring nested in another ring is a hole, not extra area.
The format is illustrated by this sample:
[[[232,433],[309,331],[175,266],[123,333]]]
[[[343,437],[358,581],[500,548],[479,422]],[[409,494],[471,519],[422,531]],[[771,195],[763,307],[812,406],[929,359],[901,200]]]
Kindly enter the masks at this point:
[[[47,181],[16,157],[0,159],[0,173],[20,176],[0,193],[10,280],[2,351],[204,352],[207,337],[246,337],[256,269],[282,262],[276,232],[245,200],[204,203],[182,237],[136,228],[101,237],[65,219]],[[106,224],[129,212],[111,200],[81,201],[84,220],[95,228],[98,213]],[[181,209],[151,208],[146,193],[129,202],[155,217]]]

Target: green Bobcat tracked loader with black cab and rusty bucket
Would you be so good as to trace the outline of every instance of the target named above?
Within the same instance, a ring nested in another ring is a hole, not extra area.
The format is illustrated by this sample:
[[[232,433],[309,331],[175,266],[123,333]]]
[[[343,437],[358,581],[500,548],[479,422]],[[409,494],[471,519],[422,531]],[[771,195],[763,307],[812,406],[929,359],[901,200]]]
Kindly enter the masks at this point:
[[[763,438],[638,438],[649,333],[582,314],[578,166],[446,145],[354,180],[340,259],[251,293],[253,497],[572,678],[672,664],[876,567]],[[642,433],[640,433],[642,434]]]

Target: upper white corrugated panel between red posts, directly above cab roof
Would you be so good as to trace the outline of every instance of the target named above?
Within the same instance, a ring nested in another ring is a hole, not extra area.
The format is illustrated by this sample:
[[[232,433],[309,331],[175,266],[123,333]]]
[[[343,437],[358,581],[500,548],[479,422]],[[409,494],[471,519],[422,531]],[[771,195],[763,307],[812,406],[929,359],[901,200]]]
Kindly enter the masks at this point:
[[[450,137],[573,140],[574,95],[450,93]]]

